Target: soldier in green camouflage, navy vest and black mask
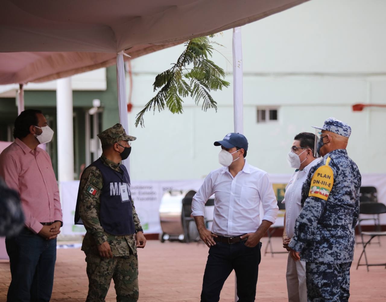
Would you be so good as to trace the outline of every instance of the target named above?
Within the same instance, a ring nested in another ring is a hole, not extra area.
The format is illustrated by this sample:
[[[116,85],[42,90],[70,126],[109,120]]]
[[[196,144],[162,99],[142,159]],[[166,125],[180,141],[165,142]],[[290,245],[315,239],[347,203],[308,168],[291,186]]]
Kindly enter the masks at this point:
[[[98,137],[103,153],[82,173],[75,212],[75,223],[83,222],[87,231],[82,244],[89,280],[86,302],[105,301],[111,279],[117,301],[137,301],[137,248],[145,247],[146,238],[131,200],[129,174],[119,164],[136,138],[120,124]]]

